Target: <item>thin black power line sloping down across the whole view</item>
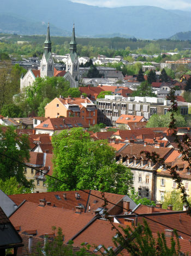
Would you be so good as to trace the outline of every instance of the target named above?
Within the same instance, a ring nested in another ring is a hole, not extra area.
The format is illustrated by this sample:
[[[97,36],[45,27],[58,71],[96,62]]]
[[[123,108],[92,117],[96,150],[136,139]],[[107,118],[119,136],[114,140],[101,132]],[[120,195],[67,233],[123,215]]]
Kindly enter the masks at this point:
[[[68,186],[70,185],[70,184],[68,184],[66,181],[60,180],[60,179],[58,179],[58,178],[56,178],[56,177],[53,177],[53,176],[51,176],[51,175],[49,175],[49,174],[46,174],[46,173],[44,173],[42,170],[39,170],[39,169],[37,169],[37,168],[28,166],[28,164],[23,163],[23,162],[21,162],[21,161],[19,161],[19,160],[16,160],[16,159],[13,158],[13,157],[7,156],[7,155],[5,155],[4,153],[1,153],[1,152],[0,152],[0,155],[2,155],[2,156],[4,156],[4,157],[7,157],[7,158],[9,158],[9,159],[11,159],[11,160],[13,160],[13,161],[15,161],[15,162],[17,162],[17,163],[20,163],[20,164],[22,164],[23,166],[26,166],[26,167],[28,167],[28,168],[37,170],[37,172],[40,172],[40,173],[42,173],[42,174],[44,174],[44,175],[46,175],[46,176],[48,176],[48,177],[50,177],[50,178],[52,178],[52,179],[55,179],[55,180],[57,180],[57,181],[59,181],[59,182],[61,182],[61,183],[64,183],[64,184],[66,184],[66,185],[68,185]],[[75,187],[75,189],[80,190],[80,191],[82,191],[82,192],[84,192],[84,193],[86,193],[86,194],[88,194],[88,195],[89,195],[89,194],[92,195],[90,192],[87,192],[87,191],[85,191],[85,190],[83,190],[83,189],[79,189],[78,187]],[[99,196],[96,196],[96,195],[92,195],[92,196],[97,197],[97,198],[99,198],[100,200],[105,201],[104,198],[102,198],[102,197],[99,197]],[[108,202],[108,203],[111,203],[111,204],[114,205],[114,206],[117,206],[117,207],[119,207],[119,208],[121,208],[121,209],[124,209],[124,210],[126,210],[126,211],[129,211],[129,212],[131,212],[131,213],[134,213],[134,214],[136,214],[136,215],[142,217],[142,214],[133,212],[133,211],[131,211],[130,209],[126,209],[126,208],[124,208],[124,207],[122,207],[122,206],[118,206],[117,204],[112,203],[112,202],[110,202],[110,201],[108,201],[108,200],[107,200],[107,202]],[[128,216],[128,215],[127,215],[127,216]],[[165,227],[168,227],[169,229],[174,230],[174,227],[171,227],[171,226],[165,225],[165,224],[163,224],[163,223],[160,223],[160,222],[157,221],[157,220],[150,219],[150,218],[148,218],[148,217],[146,217],[146,216],[144,216],[144,218],[145,218],[145,219],[148,219],[148,220],[151,220],[151,221],[153,221],[154,223],[163,225],[163,226],[165,226]],[[177,231],[177,232],[181,232],[181,233],[184,234],[184,235],[191,236],[191,234],[187,234],[187,233],[185,233],[185,232],[183,232],[183,231],[180,231],[180,230],[177,230],[177,229],[176,229],[176,231]]]

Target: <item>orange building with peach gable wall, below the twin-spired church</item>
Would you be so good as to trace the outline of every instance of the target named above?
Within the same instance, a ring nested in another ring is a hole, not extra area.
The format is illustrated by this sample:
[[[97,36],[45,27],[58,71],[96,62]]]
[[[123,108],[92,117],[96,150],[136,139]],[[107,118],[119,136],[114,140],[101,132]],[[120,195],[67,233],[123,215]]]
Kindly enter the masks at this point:
[[[97,124],[97,108],[89,98],[55,98],[45,106],[45,117],[81,117],[89,126]]]

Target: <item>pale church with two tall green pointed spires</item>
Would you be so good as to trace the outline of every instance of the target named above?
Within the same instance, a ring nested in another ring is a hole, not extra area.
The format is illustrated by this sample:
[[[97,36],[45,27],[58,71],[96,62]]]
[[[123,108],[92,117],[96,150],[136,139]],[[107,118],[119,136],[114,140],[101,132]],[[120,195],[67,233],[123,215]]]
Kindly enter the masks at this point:
[[[70,53],[66,62],[66,70],[58,71],[55,68],[52,52],[51,52],[51,40],[50,40],[50,27],[48,24],[46,40],[44,42],[44,54],[40,61],[39,70],[28,70],[25,76],[21,76],[20,90],[22,91],[27,86],[32,86],[37,77],[52,77],[62,76],[65,80],[69,81],[71,88],[77,88],[79,86],[79,61],[76,54],[76,39],[75,28],[73,26],[73,32],[70,42]]]

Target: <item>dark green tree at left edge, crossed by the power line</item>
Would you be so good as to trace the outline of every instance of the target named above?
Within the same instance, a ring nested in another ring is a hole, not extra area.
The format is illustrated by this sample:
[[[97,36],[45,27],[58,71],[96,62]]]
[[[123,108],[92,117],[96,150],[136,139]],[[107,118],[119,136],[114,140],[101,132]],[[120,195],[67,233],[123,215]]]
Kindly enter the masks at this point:
[[[0,127],[0,179],[15,177],[21,186],[31,187],[23,173],[23,164],[16,162],[29,161],[29,140],[26,134],[17,136],[14,126]],[[11,157],[5,157],[4,155]]]

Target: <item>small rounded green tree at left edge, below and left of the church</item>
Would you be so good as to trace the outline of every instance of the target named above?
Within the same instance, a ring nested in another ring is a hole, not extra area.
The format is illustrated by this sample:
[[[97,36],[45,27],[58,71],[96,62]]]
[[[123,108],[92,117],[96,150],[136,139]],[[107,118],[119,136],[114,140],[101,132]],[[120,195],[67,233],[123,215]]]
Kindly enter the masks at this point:
[[[23,111],[14,103],[4,104],[1,109],[1,115],[8,117],[23,117]]]

